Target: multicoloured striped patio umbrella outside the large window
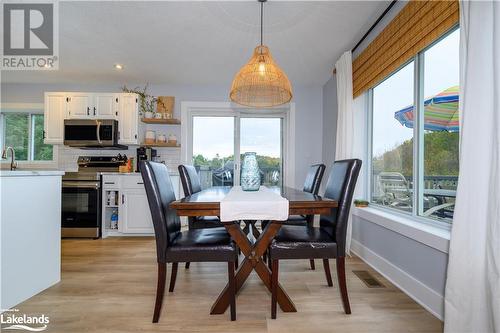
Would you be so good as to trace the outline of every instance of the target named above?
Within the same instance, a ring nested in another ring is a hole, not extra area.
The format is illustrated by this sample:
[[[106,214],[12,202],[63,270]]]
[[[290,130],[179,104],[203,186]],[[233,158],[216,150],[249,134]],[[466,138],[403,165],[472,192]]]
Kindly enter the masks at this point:
[[[413,105],[394,114],[401,125],[413,128]],[[424,129],[428,131],[458,132],[458,86],[454,86],[425,100]]]

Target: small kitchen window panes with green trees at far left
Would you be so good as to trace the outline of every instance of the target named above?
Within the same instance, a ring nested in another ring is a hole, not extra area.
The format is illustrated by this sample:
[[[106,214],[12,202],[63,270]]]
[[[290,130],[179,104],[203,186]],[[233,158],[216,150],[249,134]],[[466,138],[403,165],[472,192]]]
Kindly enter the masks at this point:
[[[52,145],[43,143],[43,114],[3,112],[0,125],[2,149],[14,148],[16,160],[52,161]]]

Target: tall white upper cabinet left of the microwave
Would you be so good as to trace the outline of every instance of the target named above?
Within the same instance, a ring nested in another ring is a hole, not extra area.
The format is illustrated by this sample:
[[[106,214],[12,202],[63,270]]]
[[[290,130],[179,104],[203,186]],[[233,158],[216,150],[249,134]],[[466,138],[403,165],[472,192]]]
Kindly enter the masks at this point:
[[[66,94],[63,92],[45,93],[43,142],[62,144],[64,141],[64,118],[66,118]]]

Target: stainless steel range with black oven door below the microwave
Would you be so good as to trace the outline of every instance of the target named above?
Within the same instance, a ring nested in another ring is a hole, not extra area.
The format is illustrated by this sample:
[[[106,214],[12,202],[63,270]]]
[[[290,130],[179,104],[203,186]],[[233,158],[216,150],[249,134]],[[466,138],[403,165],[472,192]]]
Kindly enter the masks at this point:
[[[118,172],[125,155],[80,156],[78,172],[62,181],[62,237],[101,236],[101,172]]]

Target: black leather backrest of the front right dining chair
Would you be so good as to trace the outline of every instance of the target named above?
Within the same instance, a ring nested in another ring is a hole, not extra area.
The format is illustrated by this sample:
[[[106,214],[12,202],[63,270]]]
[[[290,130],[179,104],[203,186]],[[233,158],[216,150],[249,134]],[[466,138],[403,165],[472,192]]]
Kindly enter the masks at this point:
[[[337,243],[340,257],[345,256],[347,221],[360,169],[359,159],[335,161],[326,185],[324,197],[338,201],[338,207],[332,209],[331,215],[321,215],[320,226]]]

